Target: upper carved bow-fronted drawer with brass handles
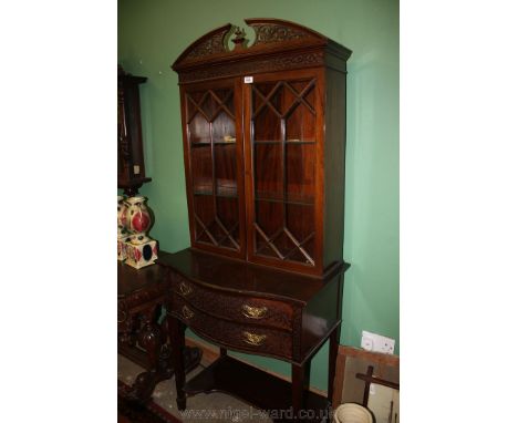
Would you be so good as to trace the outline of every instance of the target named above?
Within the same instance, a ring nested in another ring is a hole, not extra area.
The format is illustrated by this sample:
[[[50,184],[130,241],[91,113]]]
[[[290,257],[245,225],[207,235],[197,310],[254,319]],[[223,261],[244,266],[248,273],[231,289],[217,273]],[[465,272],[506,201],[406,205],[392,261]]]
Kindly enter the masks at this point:
[[[209,314],[236,322],[292,330],[293,306],[288,302],[213,291],[173,276],[173,290]]]

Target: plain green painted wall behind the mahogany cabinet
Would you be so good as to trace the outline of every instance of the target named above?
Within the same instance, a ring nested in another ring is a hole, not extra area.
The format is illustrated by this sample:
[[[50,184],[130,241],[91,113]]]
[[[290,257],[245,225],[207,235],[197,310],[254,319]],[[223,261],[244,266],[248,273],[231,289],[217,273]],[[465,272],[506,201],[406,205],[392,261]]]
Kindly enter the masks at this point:
[[[118,63],[142,85],[146,171],[142,188],[160,248],[189,246],[177,75],[183,50],[227,22],[279,18],[309,27],[353,51],[348,62],[345,274],[341,343],[362,330],[400,344],[398,2],[391,0],[120,0]],[[251,29],[248,29],[250,34]],[[115,71],[114,71],[115,72]],[[328,345],[313,359],[311,384],[325,390]],[[244,354],[239,354],[244,355]],[[247,357],[289,374],[288,363]]]

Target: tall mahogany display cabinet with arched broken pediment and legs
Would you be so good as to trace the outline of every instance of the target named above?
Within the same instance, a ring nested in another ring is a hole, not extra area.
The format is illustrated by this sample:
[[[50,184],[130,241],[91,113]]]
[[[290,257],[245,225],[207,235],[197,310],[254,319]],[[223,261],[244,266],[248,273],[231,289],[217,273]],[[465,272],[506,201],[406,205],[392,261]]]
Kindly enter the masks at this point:
[[[186,395],[219,390],[261,409],[292,405],[299,415],[328,404],[307,391],[311,358],[328,339],[332,398],[349,267],[342,246],[351,51],[292,22],[245,21],[255,31],[250,47],[227,24],[173,64],[191,240],[159,259],[170,282],[169,328],[179,339],[177,403],[185,409]],[[221,348],[220,359],[188,383],[185,327]],[[227,349],[290,362],[292,383]]]

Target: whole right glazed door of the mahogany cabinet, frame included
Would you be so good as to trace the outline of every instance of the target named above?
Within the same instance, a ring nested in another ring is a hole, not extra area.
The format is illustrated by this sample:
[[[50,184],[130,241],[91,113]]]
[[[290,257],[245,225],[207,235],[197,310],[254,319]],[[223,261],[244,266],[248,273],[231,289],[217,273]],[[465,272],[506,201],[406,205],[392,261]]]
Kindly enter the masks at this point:
[[[244,84],[250,261],[321,271],[322,79],[304,70]]]

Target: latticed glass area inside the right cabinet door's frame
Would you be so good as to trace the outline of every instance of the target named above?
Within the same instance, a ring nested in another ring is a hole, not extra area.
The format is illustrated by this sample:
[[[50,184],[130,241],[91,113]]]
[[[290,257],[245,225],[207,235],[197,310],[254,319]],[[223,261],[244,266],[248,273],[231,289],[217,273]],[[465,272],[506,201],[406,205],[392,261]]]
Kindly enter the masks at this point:
[[[255,251],[314,266],[314,80],[252,86]]]

